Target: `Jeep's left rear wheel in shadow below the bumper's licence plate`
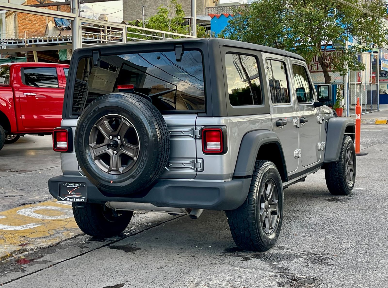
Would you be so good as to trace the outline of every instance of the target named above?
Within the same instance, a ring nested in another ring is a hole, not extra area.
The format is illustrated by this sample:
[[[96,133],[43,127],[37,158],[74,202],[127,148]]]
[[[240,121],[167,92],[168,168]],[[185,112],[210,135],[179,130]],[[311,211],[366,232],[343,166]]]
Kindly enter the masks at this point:
[[[105,204],[73,203],[73,214],[83,233],[96,238],[107,238],[125,230],[133,211],[114,211]]]

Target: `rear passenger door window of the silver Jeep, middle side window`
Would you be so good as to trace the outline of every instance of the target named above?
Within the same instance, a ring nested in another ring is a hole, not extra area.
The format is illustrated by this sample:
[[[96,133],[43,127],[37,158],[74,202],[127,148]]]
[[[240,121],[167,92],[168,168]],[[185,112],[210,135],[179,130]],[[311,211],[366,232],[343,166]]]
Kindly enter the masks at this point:
[[[267,75],[272,103],[290,103],[286,64],[282,61],[267,60]]]

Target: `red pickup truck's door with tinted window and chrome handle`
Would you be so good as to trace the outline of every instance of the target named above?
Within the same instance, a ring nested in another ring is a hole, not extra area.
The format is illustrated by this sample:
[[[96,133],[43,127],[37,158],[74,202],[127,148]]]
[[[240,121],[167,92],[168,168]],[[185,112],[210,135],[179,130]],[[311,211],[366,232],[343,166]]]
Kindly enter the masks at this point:
[[[24,129],[45,130],[61,126],[64,86],[56,67],[22,67],[19,105]]]

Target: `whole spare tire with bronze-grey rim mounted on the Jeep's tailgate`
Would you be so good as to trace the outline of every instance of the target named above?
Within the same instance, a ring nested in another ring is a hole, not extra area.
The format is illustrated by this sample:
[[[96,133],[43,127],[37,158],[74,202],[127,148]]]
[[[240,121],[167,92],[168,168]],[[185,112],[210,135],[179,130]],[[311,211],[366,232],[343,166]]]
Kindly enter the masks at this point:
[[[83,111],[74,148],[86,177],[100,190],[130,194],[154,183],[167,165],[170,137],[154,105],[130,93],[111,93]]]

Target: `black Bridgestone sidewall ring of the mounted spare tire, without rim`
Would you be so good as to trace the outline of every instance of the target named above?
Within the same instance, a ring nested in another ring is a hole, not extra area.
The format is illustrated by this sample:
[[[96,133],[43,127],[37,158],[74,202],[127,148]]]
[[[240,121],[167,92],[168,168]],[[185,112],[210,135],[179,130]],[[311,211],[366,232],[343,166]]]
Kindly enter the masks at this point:
[[[108,174],[102,171],[92,159],[89,148],[89,135],[94,124],[101,117],[109,114],[118,114],[126,117],[133,124],[139,135],[139,157],[132,169],[120,175]],[[92,102],[81,115],[78,123],[75,133],[75,150],[78,163],[87,178],[97,188],[112,194],[130,194],[139,190],[138,186],[140,182],[144,181],[144,176],[149,171],[154,154],[152,129],[141,111],[134,107],[134,105],[130,105],[125,99],[105,98],[94,103]],[[158,172],[155,171],[155,173]],[[128,187],[128,185],[133,187],[133,191],[121,190],[122,187]],[[146,186],[145,184],[141,185],[142,188],[146,188]]]

